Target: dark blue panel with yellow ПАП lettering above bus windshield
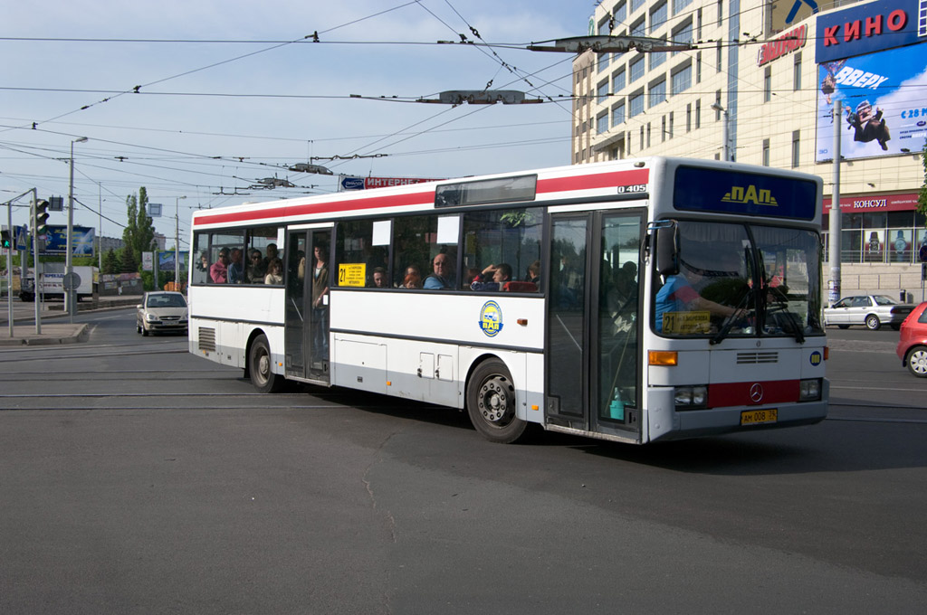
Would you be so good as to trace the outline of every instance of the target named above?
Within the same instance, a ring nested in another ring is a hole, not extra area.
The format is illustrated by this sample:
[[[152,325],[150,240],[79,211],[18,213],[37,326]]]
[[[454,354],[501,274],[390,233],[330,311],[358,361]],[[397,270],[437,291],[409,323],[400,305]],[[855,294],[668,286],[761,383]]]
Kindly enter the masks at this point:
[[[673,207],[745,216],[814,220],[818,184],[727,169],[676,169]]]

